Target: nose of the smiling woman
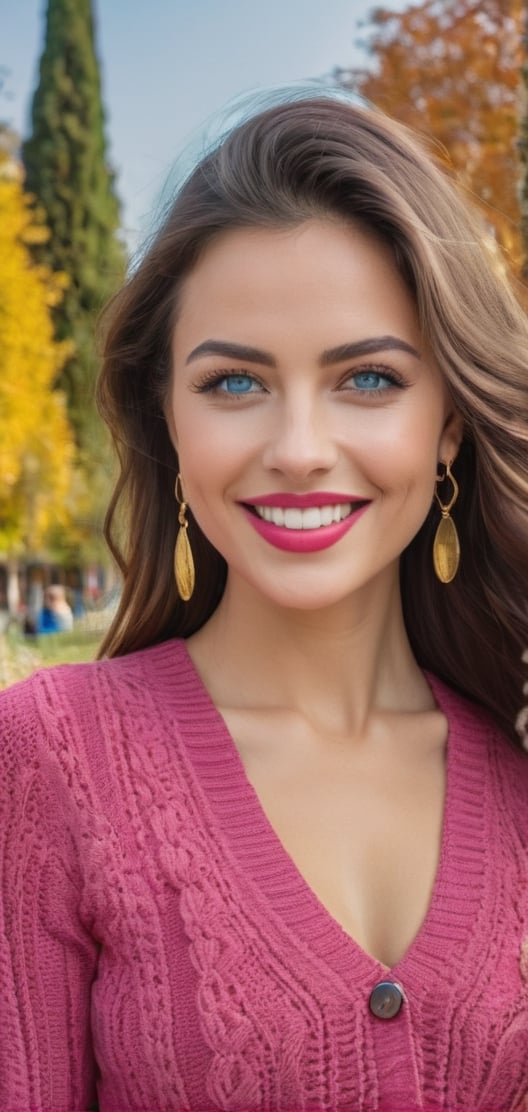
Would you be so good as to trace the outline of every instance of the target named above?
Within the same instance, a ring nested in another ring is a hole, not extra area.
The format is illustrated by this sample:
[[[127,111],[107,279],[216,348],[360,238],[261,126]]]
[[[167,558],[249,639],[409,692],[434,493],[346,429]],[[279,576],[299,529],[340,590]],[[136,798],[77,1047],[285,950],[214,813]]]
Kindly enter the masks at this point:
[[[269,470],[302,480],[329,471],[338,446],[326,407],[313,399],[291,399],[273,415],[273,426],[263,451]]]

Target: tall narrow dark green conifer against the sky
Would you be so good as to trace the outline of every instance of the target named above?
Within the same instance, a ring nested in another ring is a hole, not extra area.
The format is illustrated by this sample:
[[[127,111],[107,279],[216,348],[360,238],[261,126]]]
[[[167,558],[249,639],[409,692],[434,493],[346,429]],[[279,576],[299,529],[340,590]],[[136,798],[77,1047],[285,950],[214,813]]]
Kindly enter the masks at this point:
[[[108,165],[91,0],[48,0],[46,42],[23,143],[27,188],[50,236],[38,258],[68,275],[54,308],[57,337],[71,341],[59,377],[81,459],[94,466],[101,436],[93,406],[94,327],[123,271],[119,205]]]

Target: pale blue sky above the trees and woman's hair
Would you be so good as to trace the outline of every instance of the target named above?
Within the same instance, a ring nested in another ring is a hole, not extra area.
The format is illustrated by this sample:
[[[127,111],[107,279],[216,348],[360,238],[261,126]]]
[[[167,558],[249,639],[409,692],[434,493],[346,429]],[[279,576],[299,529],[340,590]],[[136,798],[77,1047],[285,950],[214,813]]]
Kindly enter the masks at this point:
[[[93,0],[123,227],[148,234],[169,171],[242,95],[365,64],[371,0]],[[405,0],[385,0],[402,10]],[[29,130],[46,0],[0,0],[0,119]],[[188,156],[190,157],[190,156]]]

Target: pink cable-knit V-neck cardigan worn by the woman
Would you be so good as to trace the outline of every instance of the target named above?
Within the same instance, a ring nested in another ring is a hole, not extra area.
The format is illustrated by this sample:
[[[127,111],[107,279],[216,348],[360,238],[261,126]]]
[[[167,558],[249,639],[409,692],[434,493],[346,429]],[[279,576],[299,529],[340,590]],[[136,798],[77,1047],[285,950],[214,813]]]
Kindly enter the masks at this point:
[[[286,854],[183,643],[4,692],[1,1112],[528,1109],[528,761],[431,684],[441,860],[390,971]]]

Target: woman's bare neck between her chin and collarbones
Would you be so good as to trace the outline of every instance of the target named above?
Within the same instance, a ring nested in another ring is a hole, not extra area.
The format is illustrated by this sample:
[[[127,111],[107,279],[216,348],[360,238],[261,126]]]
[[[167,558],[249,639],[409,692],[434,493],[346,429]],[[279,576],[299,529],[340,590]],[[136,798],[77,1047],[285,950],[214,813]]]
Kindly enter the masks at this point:
[[[220,706],[282,706],[361,731],[372,711],[434,705],[409,646],[396,573],[311,612],[273,606],[231,575],[188,646]]]

